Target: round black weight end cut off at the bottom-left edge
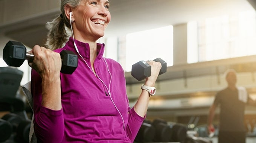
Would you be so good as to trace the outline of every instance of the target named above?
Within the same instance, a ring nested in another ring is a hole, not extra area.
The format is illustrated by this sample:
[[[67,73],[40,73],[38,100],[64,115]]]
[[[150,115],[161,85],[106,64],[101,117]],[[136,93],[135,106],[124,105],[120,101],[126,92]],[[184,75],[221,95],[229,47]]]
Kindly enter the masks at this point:
[[[0,119],[0,142],[8,140],[12,134],[11,123],[6,120]]]

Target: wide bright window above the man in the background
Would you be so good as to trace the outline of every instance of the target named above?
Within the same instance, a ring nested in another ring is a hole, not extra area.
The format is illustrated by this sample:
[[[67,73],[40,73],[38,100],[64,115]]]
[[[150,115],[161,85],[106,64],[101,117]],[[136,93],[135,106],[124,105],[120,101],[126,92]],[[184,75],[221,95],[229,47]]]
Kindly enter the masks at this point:
[[[193,21],[188,23],[187,29],[188,40],[197,40],[196,43],[188,41],[188,63],[256,54],[254,10]]]

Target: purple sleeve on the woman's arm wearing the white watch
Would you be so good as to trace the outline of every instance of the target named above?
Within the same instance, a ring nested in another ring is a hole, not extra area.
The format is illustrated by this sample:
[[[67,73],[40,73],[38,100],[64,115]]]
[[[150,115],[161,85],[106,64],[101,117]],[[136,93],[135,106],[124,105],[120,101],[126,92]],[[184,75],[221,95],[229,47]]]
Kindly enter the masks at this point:
[[[140,117],[135,111],[134,108],[131,108],[128,112],[128,124],[126,127],[126,134],[130,138],[131,142],[134,141],[137,133],[139,132],[140,126],[143,123],[145,117]]]

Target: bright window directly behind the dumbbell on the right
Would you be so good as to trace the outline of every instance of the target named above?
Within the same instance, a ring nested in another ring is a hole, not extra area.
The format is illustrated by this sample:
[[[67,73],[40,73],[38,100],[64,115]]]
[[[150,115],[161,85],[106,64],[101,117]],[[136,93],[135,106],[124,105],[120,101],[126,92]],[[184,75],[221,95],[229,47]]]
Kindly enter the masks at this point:
[[[173,65],[173,26],[145,30],[126,35],[125,71],[138,61],[161,58]]]

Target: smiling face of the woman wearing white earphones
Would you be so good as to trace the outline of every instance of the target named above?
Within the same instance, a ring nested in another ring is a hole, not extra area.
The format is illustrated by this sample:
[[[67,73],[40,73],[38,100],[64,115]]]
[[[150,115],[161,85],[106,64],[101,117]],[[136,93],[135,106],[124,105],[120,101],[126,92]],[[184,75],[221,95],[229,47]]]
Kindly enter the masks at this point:
[[[77,29],[75,36],[95,38],[96,40],[103,37],[111,20],[108,8],[108,0],[81,0],[72,12],[75,20],[73,26]]]

